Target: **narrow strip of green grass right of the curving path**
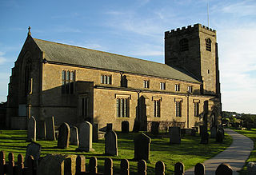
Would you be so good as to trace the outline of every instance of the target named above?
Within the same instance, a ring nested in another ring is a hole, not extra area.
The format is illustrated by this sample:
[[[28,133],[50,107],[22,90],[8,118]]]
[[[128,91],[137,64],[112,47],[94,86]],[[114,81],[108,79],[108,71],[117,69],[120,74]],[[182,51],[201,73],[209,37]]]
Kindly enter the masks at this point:
[[[246,165],[250,161],[256,161],[256,129],[251,129],[251,130],[238,130],[234,129],[234,131],[241,133],[242,135],[245,135],[246,137],[249,137],[251,140],[254,141],[254,150],[250,152],[250,157],[246,161]],[[246,165],[243,167],[243,169],[239,172],[242,175],[246,175]]]

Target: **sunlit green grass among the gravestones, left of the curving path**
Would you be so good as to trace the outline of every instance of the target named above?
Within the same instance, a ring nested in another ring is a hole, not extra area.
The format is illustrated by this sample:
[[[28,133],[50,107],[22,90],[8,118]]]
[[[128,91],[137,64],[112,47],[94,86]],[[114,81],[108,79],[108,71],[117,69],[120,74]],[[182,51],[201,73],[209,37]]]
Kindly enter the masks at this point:
[[[118,173],[120,169],[120,160],[126,158],[130,161],[130,174],[137,172],[137,161],[134,158],[134,137],[138,133],[121,133],[118,134],[118,157],[111,157],[114,161],[114,173]],[[199,144],[201,137],[198,133],[196,137],[186,135],[182,137],[182,144],[170,145],[169,137],[156,137],[150,133],[146,133],[151,137],[150,144],[150,161],[147,161],[147,173],[153,174],[154,165],[157,161],[164,161],[166,164],[166,174],[174,173],[174,164],[178,161],[184,163],[186,169],[191,168],[198,162],[203,162],[210,157],[222,152],[228,147],[232,138],[225,135],[223,143],[215,142],[214,138],[209,139],[209,145]],[[255,137],[255,135],[254,135]],[[94,152],[76,152],[78,146],[70,145],[68,149],[57,149],[57,141],[36,141],[42,145],[41,156],[47,153],[62,153],[62,154],[82,154],[86,156],[86,164],[89,162],[89,157],[98,158],[98,171],[103,172],[105,151],[104,140],[99,140],[98,143],[93,143]],[[24,130],[2,130],[0,131],[0,150],[7,153],[14,153],[15,161],[17,161],[18,153],[26,154],[26,131]],[[7,159],[6,159],[7,160]],[[254,155],[255,160],[255,155]],[[220,162],[221,163],[221,162]]]

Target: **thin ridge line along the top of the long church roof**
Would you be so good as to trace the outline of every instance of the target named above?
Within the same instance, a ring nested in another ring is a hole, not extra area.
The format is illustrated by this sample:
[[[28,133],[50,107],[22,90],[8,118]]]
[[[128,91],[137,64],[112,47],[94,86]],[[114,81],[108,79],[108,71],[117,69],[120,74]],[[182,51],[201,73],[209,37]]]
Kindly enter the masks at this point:
[[[38,38],[33,38],[33,39],[40,40],[42,42],[50,42],[50,41],[46,41],[46,40],[38,39]],[[145,60],[145,59],[142,59],[142,58],[134,58],[134,57],[129,57],[129,56],[122,55],[122,54],[114,54],[114,53],[110,53],[110,52],[106,52],[106,51],[102,51],[102,50],[93,50],[93,49],[89,49],[89,48],[82,47],[82,46],[68,45],[68,44],[63,44],[63,43],[60,43],[60,42],[51,42],[51,43],[58,44],[58,45],[63,45],[63,46],[76,47],[78,49],[83,49],[83,50],[92,50],[92,51],[101,52],[101,53],[105,53],[105,54],[113,54],[113,55],[122,56],[122,57],[125,57],[125,58],[132,58],[132,59],[136,59],[136,60],[142,60],[144,62],[153,62],[153,61]],[[166,65],[166,64],[161,63],[161,62],[153,62],[153,63],[160,64],[160,65]],[[169,65],[166,65],[166,66],[169,66]],[[174,68],[174,66],[170,66],[170,67]]]

